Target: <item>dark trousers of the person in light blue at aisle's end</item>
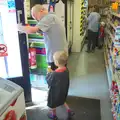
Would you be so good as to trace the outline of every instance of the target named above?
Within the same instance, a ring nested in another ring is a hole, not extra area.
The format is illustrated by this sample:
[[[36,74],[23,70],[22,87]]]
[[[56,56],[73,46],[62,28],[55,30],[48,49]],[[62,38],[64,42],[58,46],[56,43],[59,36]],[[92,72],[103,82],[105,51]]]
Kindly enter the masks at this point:
[[[88,30],[88,48],[87,50],[95,50],[96,43],[98,38],[98,32],[93,32],[91,30]]]

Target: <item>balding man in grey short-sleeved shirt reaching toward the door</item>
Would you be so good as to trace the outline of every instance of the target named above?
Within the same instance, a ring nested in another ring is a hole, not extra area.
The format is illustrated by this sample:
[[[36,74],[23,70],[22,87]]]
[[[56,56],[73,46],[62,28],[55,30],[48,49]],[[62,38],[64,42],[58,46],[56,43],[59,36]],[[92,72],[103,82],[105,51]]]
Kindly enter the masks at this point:
[[[55,13],[49,13],[43,5],[35,5],[31,10],[31,14],[38,21],[38,24],[36,26],[18,25],[18,31],[27,34],[39,33],[40,31],[44,33],[47,62],[51,69],[55,70],[57,67],[53,61],[53,54],[56,51],[68,53],[65,27]]]

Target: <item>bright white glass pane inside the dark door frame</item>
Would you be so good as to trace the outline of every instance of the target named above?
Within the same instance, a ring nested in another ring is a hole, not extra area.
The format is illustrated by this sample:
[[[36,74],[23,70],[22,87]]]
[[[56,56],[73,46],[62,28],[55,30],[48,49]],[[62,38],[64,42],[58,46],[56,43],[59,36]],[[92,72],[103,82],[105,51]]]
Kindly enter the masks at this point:
[[[16,13],[9,13],[7,6],[0,7],[0,46],[1,53],[5,46],[8,54],[1,54],[0,56],[0,66],[2,66],[2,68],[0,67],[0,77],[15,78],[23,76]]]

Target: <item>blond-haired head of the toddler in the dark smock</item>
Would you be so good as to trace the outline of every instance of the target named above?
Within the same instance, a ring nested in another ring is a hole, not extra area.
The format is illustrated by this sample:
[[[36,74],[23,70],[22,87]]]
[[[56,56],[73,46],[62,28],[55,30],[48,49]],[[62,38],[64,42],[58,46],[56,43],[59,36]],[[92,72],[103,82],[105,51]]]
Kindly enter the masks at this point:
[[[66,65],[68,60],[68,55],[65,51],[57,51],[53,55],[55,63],[59,65]]]

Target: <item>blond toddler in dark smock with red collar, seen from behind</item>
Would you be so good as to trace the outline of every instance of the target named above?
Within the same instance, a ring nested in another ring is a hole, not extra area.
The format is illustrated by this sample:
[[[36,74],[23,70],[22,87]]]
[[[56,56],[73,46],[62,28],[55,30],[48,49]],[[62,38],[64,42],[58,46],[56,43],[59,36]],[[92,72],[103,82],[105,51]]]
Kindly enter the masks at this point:
[[[51,108],[48,117],[52,120],[57,120],[56,108],[64,105],[70,118],[74,115],[74,112],[71,111],[66,103],[69,89],[69,71],[66,68],[68,56],[64,51],[58,51],[54,54],[53,58],[58,68],[55,71],[49,71],[46,76],[49,86],[47,105]]]

